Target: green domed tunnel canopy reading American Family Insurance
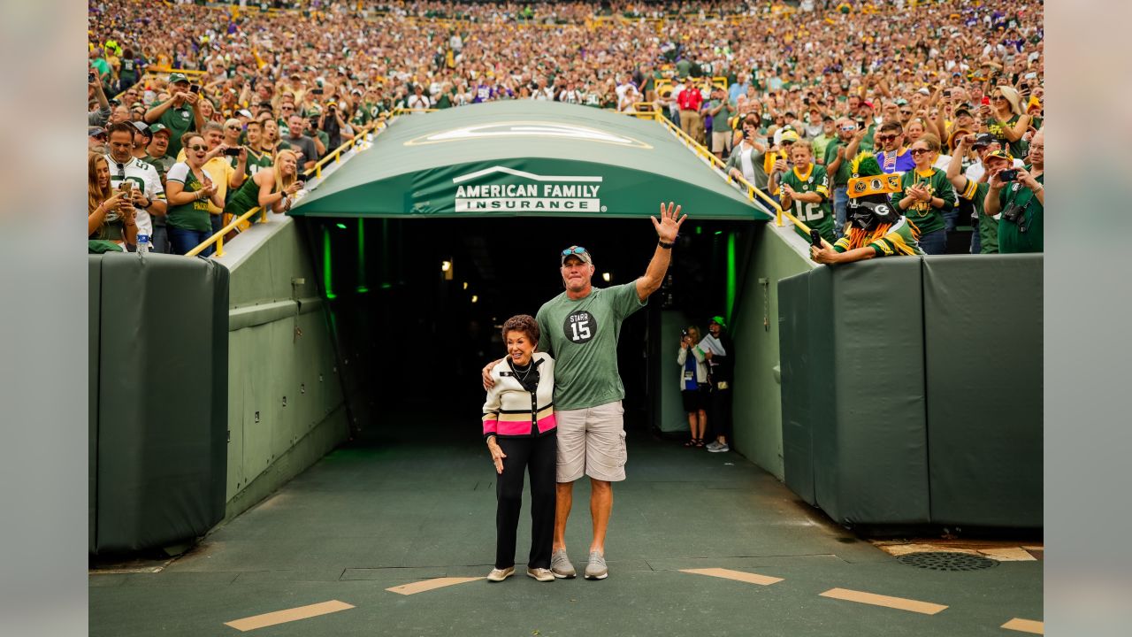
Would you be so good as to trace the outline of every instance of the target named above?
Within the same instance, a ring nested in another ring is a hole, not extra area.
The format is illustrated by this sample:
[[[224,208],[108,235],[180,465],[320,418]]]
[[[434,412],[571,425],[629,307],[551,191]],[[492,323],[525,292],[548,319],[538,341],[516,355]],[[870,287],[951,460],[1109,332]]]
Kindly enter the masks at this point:
[[[403,116],[329,175],[297,216],[770,219],[663,126],[516,100]]]

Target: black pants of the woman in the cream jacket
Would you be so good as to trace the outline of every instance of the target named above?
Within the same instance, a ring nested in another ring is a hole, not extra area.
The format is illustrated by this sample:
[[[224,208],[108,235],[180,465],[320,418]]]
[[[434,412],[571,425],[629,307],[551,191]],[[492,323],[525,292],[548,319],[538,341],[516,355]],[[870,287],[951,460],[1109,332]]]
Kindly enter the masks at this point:
[[[523,508],[523,470],[531,473],[530,568],[550,568],[550,545],[555,535],[555,468],[558,438],[497,438],[507,455],[496,483],[496,568],[515,564],[515,535]]]

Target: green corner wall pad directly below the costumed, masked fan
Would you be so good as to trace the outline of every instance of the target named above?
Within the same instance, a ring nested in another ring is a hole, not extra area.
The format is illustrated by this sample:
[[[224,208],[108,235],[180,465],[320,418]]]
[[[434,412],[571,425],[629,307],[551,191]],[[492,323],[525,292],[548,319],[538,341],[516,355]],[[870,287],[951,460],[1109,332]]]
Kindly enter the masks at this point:
[[[918,258],[811,274],[814,490],[840,524],[929,519],[920,288]]]

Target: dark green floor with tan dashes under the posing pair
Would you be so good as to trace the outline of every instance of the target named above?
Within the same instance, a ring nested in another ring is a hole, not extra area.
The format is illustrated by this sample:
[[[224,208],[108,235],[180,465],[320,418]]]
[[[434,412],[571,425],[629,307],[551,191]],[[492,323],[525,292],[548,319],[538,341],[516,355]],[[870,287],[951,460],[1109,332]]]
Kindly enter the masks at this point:
[[[478,424],[473,418],[473,430]],[[524,516],[515,577],[387,591],[491,569],[495,473],[475,431],[446,440],[457,436],[344,447],[160,572],[92,570],[89,634],[235,635],[225,622],[329,601],[353,608],[306,619],[297,611],[250,632],[975,636],[1018,635],[1001,627],[1041,620],[1041,561],[968,572],[904,566],[737,453],[685,449],[644,432],[629,433],[628,479],[615,486],[608,579],[523,575]],[[588,500],[580,482],[567,528],[578,571]],[[707,568],[780,580],[681,571]],[[833,588],[946,609],[925,614],[821,595]]]

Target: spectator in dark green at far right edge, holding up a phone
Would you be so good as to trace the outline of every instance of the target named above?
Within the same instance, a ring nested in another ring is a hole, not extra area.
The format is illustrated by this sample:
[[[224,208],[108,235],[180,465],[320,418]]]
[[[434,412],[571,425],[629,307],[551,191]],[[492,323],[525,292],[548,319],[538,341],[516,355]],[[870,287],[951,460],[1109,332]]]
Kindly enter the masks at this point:
[[[1043,252],[1045,214],[1045,129],[1030,139],[1030,163],[1024,168],[1000,167],[992,171],[983,203],[985,214],[1002,213],[998,221],[1001,254]]]

